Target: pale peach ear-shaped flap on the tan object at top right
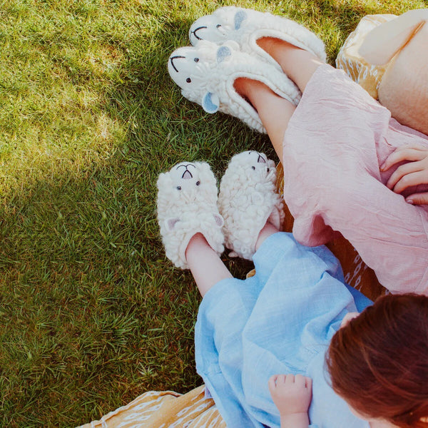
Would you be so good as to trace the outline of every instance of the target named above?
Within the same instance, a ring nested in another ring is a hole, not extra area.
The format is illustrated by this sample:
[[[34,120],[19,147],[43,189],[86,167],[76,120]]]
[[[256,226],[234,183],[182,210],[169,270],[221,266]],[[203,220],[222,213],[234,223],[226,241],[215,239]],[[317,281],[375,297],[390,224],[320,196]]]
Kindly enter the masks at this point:
[[[373,65],[385,64],[412,39],[427,20],[428,9],[416,9],[384,22],[367,34],[358,53]]]

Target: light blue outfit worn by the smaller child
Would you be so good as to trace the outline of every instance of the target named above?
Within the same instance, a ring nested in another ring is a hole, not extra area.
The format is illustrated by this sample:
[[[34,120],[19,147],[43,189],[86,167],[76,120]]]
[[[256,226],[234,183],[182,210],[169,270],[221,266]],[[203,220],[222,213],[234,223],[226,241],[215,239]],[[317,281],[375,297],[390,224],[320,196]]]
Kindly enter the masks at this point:
[[[372,302],[344,285],[330,250],[291,234],[267,238],[253,260],[254,277],[208,291],[195,326],[196,368],[228,428],[280,427],[267,387],[280,373],[312,378],[313,426],[369,428],[330,387],[324,360],[345,314]]]

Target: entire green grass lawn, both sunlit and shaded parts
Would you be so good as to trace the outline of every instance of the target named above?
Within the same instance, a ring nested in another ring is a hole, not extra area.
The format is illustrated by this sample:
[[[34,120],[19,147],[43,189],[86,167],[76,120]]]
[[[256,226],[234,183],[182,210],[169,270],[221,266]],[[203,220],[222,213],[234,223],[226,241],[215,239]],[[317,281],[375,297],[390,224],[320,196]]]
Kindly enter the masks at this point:
[[[0,0],[0,427],[73,427],[187,392],[200,302],[165,259],[156,178],[266,136],[180,96],[167,58],[231,1]],[[317,32],[329,61],[366,14],[422,0],[238,1]],[[227,260],[243,277],[251,265]]]

